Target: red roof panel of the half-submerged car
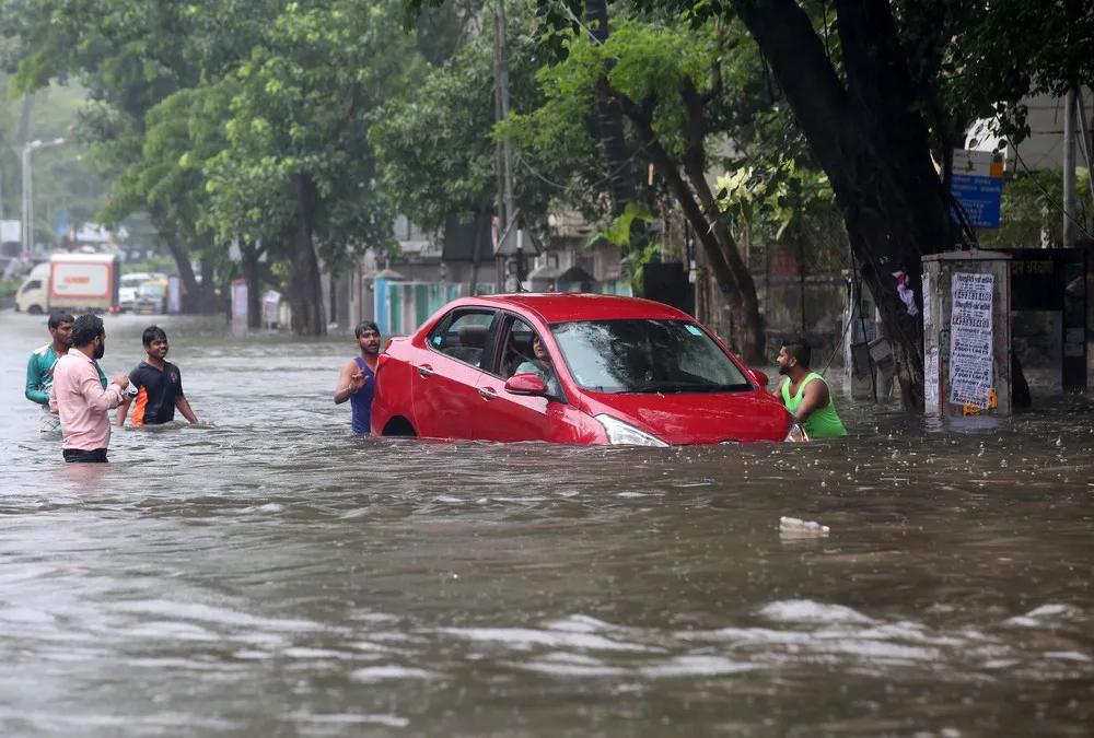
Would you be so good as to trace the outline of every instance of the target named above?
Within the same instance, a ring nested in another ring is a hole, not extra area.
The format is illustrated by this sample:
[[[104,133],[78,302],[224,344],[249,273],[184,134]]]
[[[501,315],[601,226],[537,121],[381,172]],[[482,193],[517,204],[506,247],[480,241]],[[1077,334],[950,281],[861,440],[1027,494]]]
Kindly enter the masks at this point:
[[[652,300],[580,292],[519,292],[481,295],[467,298],[465,304],[490,305],[501,308],[523,307],[537,313],[546,323],[640,318],[654,320],[691,319],[675,307]]]

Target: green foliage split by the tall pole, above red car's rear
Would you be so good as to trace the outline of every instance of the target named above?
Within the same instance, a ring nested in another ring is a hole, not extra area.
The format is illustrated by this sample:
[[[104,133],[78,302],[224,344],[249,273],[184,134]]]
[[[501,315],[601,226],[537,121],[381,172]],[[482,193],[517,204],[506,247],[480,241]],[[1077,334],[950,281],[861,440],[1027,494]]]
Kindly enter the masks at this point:
[[[479,22],[489,28],[489,9]],[[510,9],[508,50],[510,109],[521,115],[544,103],[536,82],[543,65],[527,34],[525,7]],[[370,119],[381,189],[392,206],[427,231],[450,215],[469,221],[493,213],[498,198],[492,34],[479,33],[451,60],[430,71],[417,89],[392,99]],[[583,118],[567,134],[516,151],[516,200],[528,223],[544,223],[550,203],[593,209],[600,179],[596,141]]]

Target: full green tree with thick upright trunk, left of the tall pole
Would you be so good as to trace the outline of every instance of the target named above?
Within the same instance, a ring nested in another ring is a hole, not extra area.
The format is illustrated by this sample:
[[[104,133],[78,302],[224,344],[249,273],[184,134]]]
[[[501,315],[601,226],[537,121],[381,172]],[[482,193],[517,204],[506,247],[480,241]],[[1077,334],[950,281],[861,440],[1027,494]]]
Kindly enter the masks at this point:
[[[392,244],[365,121],[419,67],[400,20],[397,2],[289,3],[232,73],[228,148],[208,167],[211,211],[222,235],[284,244],[294,332],[326,332],[316,244],[334,273]]]

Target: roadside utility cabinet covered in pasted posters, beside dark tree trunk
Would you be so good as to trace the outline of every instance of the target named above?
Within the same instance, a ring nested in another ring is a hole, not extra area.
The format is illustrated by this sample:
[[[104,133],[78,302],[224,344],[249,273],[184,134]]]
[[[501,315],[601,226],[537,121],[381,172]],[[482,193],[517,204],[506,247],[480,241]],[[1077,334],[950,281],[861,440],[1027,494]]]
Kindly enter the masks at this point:
[[[923,397],[934,418],[1011,414],[1011,255],[923,257]]]

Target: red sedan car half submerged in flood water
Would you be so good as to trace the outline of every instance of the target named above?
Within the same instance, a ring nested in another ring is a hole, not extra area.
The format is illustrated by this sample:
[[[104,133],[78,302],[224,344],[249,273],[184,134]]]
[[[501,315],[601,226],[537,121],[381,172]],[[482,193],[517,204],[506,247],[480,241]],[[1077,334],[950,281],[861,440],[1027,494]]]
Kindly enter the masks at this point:
[[[464,297],[392,339],[382,435],[666,446],[795,441],[790,413],[702,325],[648,300]]]

